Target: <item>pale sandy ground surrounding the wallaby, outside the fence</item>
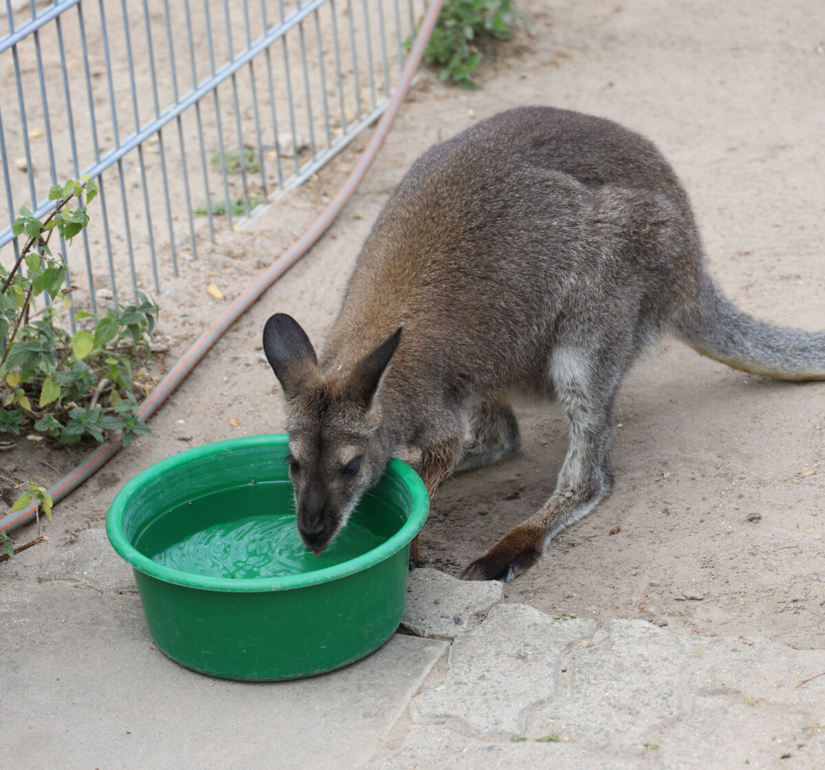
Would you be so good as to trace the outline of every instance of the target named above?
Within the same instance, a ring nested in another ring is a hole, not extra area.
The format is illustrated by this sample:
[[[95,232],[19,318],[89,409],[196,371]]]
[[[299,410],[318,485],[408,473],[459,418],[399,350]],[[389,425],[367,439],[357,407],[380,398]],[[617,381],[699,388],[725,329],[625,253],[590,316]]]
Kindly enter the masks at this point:
[[[648,135],[691,195],[728,296],[780,325],[825,327],[823,4],[520,7],[525,31],[484,65],[482,88],[464,93],[424,75],[332,231],[172,396],[152,421],[156,437],[136,441],[57,506],[50,543],[2,565],[5,578],[34,579],[50,555],[73,547],[74,532],[100,526],[120,485],[158,459],[283,430],[279,388],[261,360],[266,317],[289,312],[320,344],[370,222],[409,164],[507,107],[552,104]],[[161,324],[174,352],[311,221],[354,150],[184,266]],[[206,294],[210,281],[224,303]],[[422,535],[427,566],[459,573],[552,491],[566,449],[560,413],[531,405],[518,416],[521,454],[443,487]],[[703,635],[825,646],[825,383],[752,377],[667,341],[629,373],[616,421],[612,495],[509,584],[507,600],[600,622],[644,618]],[[41,456],[59,462],[50,450]]]

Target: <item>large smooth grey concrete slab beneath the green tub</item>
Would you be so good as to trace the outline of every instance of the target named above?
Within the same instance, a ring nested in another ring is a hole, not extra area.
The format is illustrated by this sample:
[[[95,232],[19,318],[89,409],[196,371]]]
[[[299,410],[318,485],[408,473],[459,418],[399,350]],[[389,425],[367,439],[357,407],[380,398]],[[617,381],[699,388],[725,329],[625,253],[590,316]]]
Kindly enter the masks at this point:
[[[348,668],[227,682],[155,648],[138,597],[0,585],[0,765],[358,768],[446,649],[395,635]]]

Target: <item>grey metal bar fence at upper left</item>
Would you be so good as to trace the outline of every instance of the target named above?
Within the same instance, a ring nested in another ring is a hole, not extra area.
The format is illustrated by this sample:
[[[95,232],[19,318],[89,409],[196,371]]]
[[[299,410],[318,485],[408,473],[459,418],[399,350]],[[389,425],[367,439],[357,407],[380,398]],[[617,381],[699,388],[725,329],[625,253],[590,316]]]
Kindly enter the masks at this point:
[[[91,174],[90,226],[60,246],[75,305],[92,312],[98,292],[116,302],[124,284],[160,291],[199,242],[295,188],[375,121],[425,5],[0,2],[0,261],[10,268],[20,253],[21,205],[44,216],[53,184]]]

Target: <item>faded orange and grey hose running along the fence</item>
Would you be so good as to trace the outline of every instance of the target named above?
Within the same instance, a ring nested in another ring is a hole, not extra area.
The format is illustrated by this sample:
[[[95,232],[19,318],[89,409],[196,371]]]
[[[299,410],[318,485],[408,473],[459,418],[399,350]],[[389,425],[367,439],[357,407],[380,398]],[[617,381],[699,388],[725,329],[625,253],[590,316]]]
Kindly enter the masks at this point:
[[[373,131],[370,137],[370,143],[366,146],[364,152],[361,153],[361,157],[358,159],[355,168],[352,169],[350,175],[347,177],[347,181],[342,185],[337,195],[323,210],[321,215],[318,216],[318,219],[304,232],[304,235],[301,235],[301,237],[286,250],[285,254],[281,255],[279,259],[276,259],[266,273],[264,273],[261,278],[258,278],[252,286],[247,288],[247,290],[227,308],[224,314],[220,316],[204,334],[200,335],[196,343],[178,359],[177,363],[172,367],[172,370],[167,373],[166,377],[158,384],[158,387],[156,387],[140,405],[138,414],[142,420],[148,420],[150,416],[158,411],[175,388],[183,382],[186,375],[200,363],[200,359],[202,359],[212,345],[219,340],[219,337],[261,297],[263,292],[266,292],[266,289],[270,288],[292,264],[295,264],[295,262],[314,245],[315,241],[318,240],[323,232],[332,224],[332,221],[334,221],[338,212],[341,211],[352,193],[355,192],[366,170],[375,159],[375,154],[377,154],[380,146],[384,142],[387,131],[389,131],[389,126],[395,114],[398,112],[398,108],[401,106],[403,97],[408,91],[409,84],[413,79],[413,74],[415,74],[418,62],[421,60],[424,48],[427,45],[427,40],[430,39],[432,28],[436,24],[438,13],[441,10],[441,2],[442,0],[431,0],[430,6],[427,8],[427,14],[418,30],[418,34],[415,40],[413,40],[413,46],[404,64],[401,79],[398,82],[398,88],[395,89],[386,110],[384,110],[381,116],[378,126],[375,127],[375,131]],[[92,454],[83,460],[82,463],[61,478],[59,482],[55,483],[53,487],[50,487],[49,494],[52,497],[52,501],[57,502],[62,500],[69,492],[73,492],[74,489],[79,487],[87,478],[90,478],[99,468],[114,457],[120,450],[120,447],[121,434],[117,433],[112,436],[110,440],[106,441],[106,443],[101,444]],[[0,532],[11,531],[31,521],[35,517],[36,509],[37,506],[32,504],[21,509],[21,511],[7,514],[5,518],[0,520]]]

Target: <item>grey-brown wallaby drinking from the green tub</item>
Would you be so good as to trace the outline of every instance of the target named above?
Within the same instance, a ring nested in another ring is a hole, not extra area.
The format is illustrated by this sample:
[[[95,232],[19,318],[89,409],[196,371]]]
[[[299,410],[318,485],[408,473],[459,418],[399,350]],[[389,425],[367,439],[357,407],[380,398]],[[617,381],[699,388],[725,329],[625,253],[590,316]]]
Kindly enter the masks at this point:
[[[526,392],[567,418],[558,485],[464,571],[511,580],[610,491],[616,391],[667,332],[747,372],[825,379],[825,333],[768,326],[722,295],[685,191],[642,136],[523,107],[436,145],[365,240],[320,363],[290,316],[266,321],[304,544],[326,548],[404,449],[420,450],[431,496],[516,452],[508,398]]]

